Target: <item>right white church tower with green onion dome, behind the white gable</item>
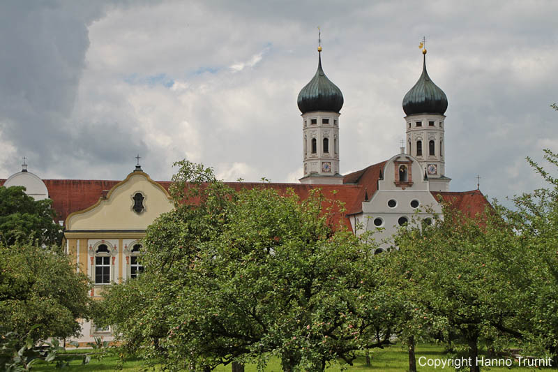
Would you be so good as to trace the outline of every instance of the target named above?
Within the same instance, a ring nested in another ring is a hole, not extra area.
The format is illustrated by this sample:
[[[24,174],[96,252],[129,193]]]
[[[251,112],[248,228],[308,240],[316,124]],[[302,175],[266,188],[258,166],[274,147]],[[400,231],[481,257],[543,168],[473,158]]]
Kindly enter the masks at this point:
[[[428,76],[424,41],[420,47],[423,73],[403,98],[407,154],[414,156],[425,169],[430,191],[449,191],[451,179],[445,176],[444,161],[444,113],[448,98]]]

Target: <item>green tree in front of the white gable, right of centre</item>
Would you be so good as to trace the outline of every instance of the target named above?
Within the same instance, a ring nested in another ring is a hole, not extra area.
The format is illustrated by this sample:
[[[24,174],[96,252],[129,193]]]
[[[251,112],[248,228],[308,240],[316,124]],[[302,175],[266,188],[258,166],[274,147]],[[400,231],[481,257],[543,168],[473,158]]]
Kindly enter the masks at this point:
[[[400,250],[390,255],[390,280],[406,305],[402,327],[462,345],[475,360],[480,341],[515,336],[518,288],[504,280],[503,267],[513,232],[491,211],[469,218],[449,205],[435,221],[401,230]]]

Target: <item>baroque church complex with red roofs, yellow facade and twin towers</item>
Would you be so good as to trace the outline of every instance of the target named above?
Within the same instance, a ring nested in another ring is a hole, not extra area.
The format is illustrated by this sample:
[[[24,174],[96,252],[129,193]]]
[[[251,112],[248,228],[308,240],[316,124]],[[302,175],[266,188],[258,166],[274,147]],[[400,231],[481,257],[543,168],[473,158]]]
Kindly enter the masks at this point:
[[[469,215],[483,211],[488,201],[480,191],[450,191],[444,159],[448,100],[428,75],[425,49],[422,73],[402,102],[406,146],[384,161],[345,175],[341,173],[339,147],[343,96],[326,77],[321,52],[322,47],[318,47],[317,71],[298,96],[303,177],[299,184],[271,183],[266,187],[280,192],[292,188],[301,198],[320,188],[326,198],[345,204],[347,211],[339,218],[347,228],[356,234],[377,232],[375,239],[380,246],[376,253],[390,248],[393,233],[413,216],[428,223],[432,212],[442,211],[439,201]],[[237,190],[261,185],[227,184]],[[103,286],[133,279],[142,272],[145,230],[160,214],[172,210],[170,182],[153,181],[139,162],[121,181],[40,179],[28,172],[24,163],[21,172],[0,179],[0,185],[25,186],[36,200],[52,199],[56,222],[64,229],[66,253],[75,269],[91,278],[94,286],[90,295],[96,298],[102,297]],[[77,341],[91,342],[99,336],[112,339],[110,329],[83,322],[82,337]]]

